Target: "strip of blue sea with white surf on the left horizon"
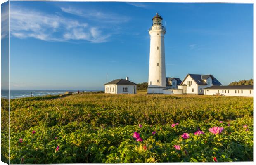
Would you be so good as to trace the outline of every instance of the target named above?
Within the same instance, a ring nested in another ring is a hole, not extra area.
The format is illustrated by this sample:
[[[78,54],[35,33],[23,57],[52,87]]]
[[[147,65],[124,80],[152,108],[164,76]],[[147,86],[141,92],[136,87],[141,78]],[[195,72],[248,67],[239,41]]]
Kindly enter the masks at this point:
[[[59,95],[64,94],[66,91],[77,93],[78,90],[10,90],[10,99],[17,99],[21,97],[35,97],[46,95]],[[94,92],[100,90],[79,90],[80,92]],[[1,90],[1,97],[8,98],[8,90]]]

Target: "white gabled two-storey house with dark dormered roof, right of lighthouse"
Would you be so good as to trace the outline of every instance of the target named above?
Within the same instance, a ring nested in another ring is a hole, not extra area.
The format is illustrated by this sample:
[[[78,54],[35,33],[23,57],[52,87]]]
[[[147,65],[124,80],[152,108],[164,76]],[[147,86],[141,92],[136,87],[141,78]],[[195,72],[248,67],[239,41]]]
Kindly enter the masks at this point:
[[[183,94],[204,94],[204,88],[213,85],[222,85],[213,75],[187,74],[178,88]]]

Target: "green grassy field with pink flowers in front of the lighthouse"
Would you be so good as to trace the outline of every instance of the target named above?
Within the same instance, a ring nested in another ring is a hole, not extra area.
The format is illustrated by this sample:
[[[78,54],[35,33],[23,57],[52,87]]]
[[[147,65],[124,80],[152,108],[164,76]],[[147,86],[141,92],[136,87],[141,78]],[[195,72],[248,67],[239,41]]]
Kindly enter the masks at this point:
[[[13,164],[253,161],[249,97],[32,97],[10,115]]]

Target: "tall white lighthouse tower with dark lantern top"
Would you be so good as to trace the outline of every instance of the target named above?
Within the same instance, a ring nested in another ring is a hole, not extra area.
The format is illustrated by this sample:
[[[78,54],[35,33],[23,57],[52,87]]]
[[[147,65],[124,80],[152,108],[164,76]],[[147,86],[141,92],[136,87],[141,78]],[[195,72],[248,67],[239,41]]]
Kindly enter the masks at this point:
[[[149,54],[149,81],[148,94],[163,94],[166,88],[164,35],[165,27],[162,25],[162,17],[156,13],[153,17],[153,25],[149,29],[150,54]]]

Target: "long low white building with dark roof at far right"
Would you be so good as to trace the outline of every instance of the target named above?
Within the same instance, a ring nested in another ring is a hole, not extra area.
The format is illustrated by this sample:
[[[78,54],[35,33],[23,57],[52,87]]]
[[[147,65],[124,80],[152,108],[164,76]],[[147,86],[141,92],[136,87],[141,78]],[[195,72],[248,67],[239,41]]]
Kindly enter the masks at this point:
[[[254,96],[253,85],[212,86],[204,89],[205,95]]]

